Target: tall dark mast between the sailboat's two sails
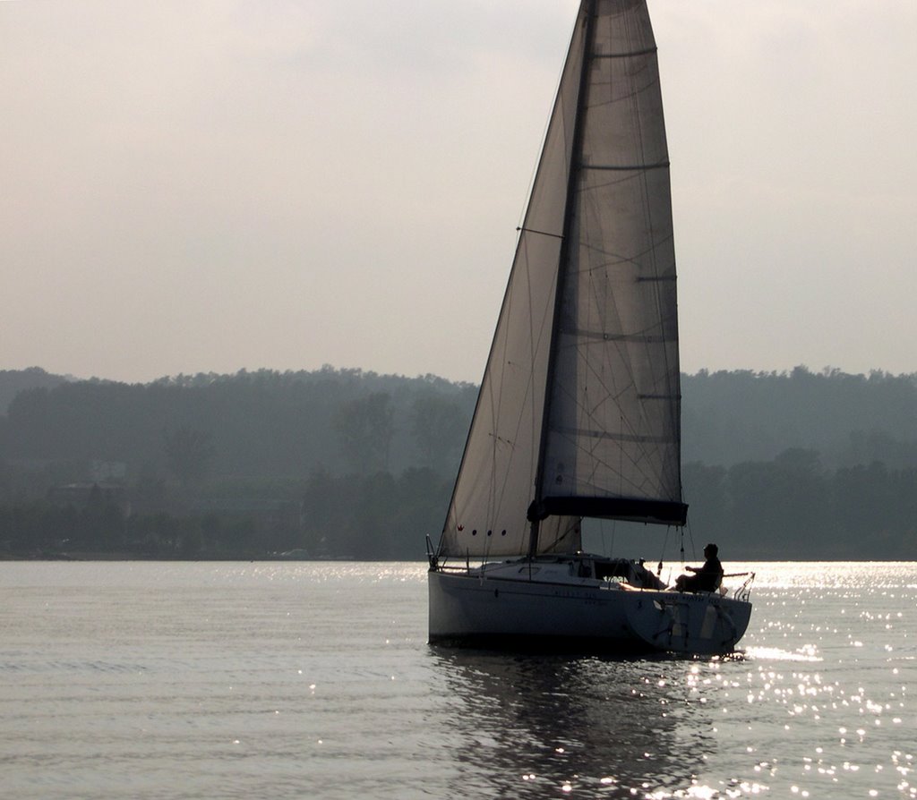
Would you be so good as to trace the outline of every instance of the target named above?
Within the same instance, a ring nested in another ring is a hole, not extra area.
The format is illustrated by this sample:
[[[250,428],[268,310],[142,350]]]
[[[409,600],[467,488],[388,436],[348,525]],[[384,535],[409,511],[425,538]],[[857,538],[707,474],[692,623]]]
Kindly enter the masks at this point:
[[[541,439],[538,444],[538,464],[535,478],[535,499],[528,509],[528,520],[531,522],[528,542],[528,556],[535,558],[538,552],[538,529],[545,519],[541,508],[541,487],[545,476],[545,454],[547,452],[547,426],[551,415],[551,387],[558,360],[558,319],[564,297],[564,284],[567,270],[563,265],[569,258],[570,225],[576,203],[576,186],[580,175],[580,153],[582,150],[583,118],[586,115],[586,101],[589,93],[589,73],[592,69],[592,51],[595,47],[595,3],[596,0],[583,0],[585,7],[586,36],[583,38],[583,58],[580,67],[580,92],[577,95],[576,120],[573,127],[573,148],[570,150],[569,175],[567,177],[567,201],[564,207],[564,225],[558,258],[558,285],[554,295],[554,316],[551,324],[551,345],[547,362],[547,380],[545,382],[545,404],[541,418]]]

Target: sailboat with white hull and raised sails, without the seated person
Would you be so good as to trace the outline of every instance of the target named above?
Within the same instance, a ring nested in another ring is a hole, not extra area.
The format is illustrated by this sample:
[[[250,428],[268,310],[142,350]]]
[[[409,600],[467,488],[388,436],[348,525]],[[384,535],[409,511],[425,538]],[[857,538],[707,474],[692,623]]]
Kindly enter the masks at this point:
[[[724,653],[745,633],[747,581],[676,591],[641,561],[581,550],[584,519],[687,520],[668,172],[646,2],[583,0],[427,543],[429,641]]]

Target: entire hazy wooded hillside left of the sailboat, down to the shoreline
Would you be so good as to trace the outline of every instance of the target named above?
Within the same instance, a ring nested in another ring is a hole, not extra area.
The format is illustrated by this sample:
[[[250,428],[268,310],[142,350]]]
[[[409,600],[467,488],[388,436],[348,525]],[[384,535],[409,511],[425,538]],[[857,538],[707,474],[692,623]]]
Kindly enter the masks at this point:
[[[0,417],[0,553],[44,557],[422,557],[477,393],[331,367],[29,375]]]

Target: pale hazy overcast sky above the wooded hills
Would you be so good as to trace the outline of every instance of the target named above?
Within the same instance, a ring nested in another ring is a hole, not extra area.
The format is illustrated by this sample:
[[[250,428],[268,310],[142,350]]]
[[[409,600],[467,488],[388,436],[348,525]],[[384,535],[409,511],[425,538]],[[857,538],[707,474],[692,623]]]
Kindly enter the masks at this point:
[[[578,5],[0,2],[0,368],[479,380]],[[650,13],[682,368],[917,371],[917,2]]]

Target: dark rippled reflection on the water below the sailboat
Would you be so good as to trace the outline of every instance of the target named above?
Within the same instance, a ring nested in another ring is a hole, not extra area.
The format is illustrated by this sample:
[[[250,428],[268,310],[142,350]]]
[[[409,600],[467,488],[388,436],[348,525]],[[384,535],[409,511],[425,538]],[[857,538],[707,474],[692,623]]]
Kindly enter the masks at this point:
[[[453,748],[467,767],[456,795],[676,792],[715,748],[710,710],[686,699],[683,660],[447,648],[434,657],[456,706]]]

